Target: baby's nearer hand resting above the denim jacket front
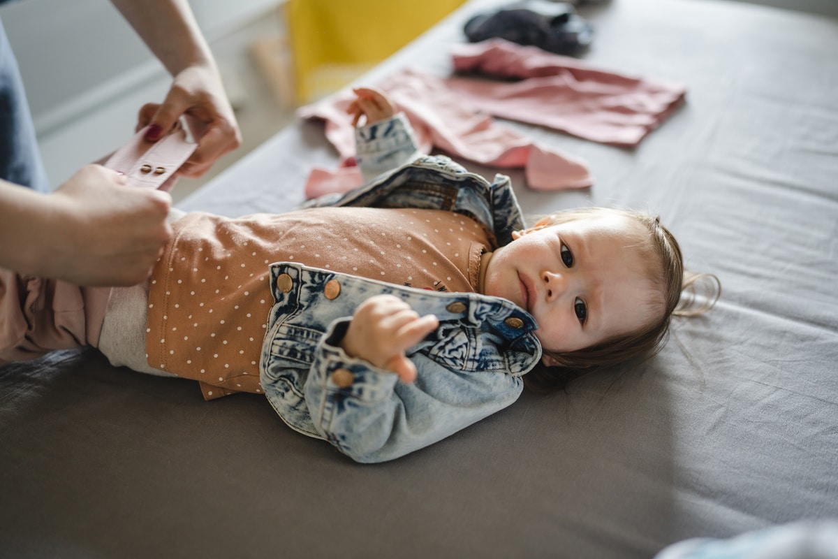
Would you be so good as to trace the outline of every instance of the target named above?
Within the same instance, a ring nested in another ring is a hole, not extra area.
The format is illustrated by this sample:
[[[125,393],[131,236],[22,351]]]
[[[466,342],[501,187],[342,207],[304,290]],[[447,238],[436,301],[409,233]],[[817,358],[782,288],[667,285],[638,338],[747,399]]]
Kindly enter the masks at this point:
[[[392,370],[405,382],[416,379],[416,365],[405,352],[439,325],[437,317],[419,316],[393,295],[370,297],[355,310],[341,346],[351,357]]]

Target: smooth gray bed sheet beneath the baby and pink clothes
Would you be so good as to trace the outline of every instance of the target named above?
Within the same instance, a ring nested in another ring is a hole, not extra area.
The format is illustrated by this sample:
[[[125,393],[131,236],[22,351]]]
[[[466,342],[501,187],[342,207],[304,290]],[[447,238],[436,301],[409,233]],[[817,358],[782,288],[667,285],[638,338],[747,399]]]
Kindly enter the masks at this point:
[[[470,2],[365,83],[444,75]],[[497,2],[494,2],[497,4]],[[358,465],[261,396],[96,351],[0,370],[0,556],[650,557],[694,536],[838,517],[838,21],[713,0],[582,10],[586,60],[680,80],[687,98],[633,150],[538,127],[597,176],[527,189],[527,211],[659,213],[724,292],[648,362],[525,394],[391,463]],[[518,125],[516,125],[518,126]],[[297,123],[184,210],[284,211],[336,154]],[[489,174],[494,169],[474,170]]]

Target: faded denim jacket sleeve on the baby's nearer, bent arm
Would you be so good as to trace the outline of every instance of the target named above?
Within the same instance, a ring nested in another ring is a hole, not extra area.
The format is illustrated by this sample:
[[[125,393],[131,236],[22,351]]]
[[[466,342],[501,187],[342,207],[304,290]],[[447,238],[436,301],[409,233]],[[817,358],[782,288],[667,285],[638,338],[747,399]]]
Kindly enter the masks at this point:
[[[421,351],[409,357],[414,383],[350,358],[339,346],[349,319],[336,320],[319,344],[305,385],[314,427],[357,462],[399,458],[510,406],[520,375],[449,369]]]

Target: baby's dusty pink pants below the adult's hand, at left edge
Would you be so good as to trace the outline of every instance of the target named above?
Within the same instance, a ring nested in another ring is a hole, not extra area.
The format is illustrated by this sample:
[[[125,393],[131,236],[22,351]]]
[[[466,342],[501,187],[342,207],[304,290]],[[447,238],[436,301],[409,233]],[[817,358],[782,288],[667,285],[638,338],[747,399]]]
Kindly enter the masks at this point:
[[[110,293],[0,268],[0,365],[96,346]]]

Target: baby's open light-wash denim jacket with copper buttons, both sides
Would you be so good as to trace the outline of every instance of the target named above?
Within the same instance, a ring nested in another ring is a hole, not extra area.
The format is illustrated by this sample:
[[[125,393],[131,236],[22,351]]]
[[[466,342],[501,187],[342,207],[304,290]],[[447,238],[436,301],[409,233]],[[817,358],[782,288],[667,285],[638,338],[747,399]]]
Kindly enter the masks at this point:
[[[416,156],[402,115],[356,131],[358,163],[375,180],[311,205],[450,210],[482,221],[500,246],[521,229],[510,179],[489,182],[440,156]],[[409,160],[411,163],[401,164]],[[432,292],[303,266],[271,265],[274,304],[262,346],[261,386],[282,420],[358,462],[382,462],[436,443],[510,406],[521,375],[541,359],[535,319],[503,299]],[[349,357],[340,341],[360,303],[391,293],[439,327],[407,355],[417,378]]]

